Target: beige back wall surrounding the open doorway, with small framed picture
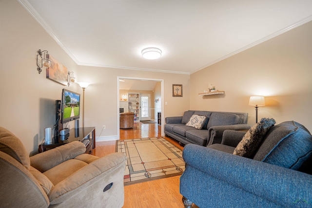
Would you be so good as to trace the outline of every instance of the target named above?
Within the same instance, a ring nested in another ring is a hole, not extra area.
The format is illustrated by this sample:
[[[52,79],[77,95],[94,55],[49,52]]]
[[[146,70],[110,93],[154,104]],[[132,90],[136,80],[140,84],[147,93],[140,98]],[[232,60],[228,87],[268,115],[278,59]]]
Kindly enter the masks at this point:
[[[137,77],[164,80],[165,116],[182,115],[190,108],[189,75],[145,72],[115,68],[78,66],[79,80],[92,83],[85,91],[85,125],[95,126],[100,133],[102,125],[106,125],[100,140],[114,139],[117,136],[117,77]],[[80,79],[80,77],[83,77]],[[172,97],[172,84],[183,84],[183,97]],[[137,92],[137,91],[136,91]]]

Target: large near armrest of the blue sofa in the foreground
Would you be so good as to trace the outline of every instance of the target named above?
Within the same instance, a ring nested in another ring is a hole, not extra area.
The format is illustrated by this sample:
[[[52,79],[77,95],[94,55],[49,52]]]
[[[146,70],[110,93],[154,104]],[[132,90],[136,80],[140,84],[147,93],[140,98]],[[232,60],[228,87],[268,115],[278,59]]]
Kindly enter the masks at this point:
[[[312,175],[188,144],[180,193],[200,208],[306,207]]]

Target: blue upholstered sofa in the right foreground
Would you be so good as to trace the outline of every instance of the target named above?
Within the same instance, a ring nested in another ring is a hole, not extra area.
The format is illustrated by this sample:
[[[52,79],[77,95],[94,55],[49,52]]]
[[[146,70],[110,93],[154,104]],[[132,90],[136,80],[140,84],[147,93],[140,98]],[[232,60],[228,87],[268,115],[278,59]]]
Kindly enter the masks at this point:
[[[221,144],[184,147],[180,177],[185,208],[312,207],[312,135],[286,121],[265,134],[252,158],[233,155],[245,132],[225,131]]]

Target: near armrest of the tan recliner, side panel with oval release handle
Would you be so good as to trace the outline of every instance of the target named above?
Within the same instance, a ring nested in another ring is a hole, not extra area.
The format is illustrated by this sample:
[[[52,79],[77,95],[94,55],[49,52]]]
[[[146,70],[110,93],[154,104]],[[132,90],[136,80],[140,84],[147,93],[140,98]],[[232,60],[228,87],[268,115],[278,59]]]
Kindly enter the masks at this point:
[[[50,204],[62,203],[62,207],[81,207],[81,205],[85,204],[83,200],[87,200],[87,207],[98,207],[98,205],[122,207],[125,167],[126,156],[123,153],[115,152],[100,157],[56,184],[48,195]],[[112,188],[105,192],[104,188],[111,183],[113,183]],[[87,194],[88,199],[77,197],[85,192],[89,192]],[[114,199],[110,200],[110,197]]]

